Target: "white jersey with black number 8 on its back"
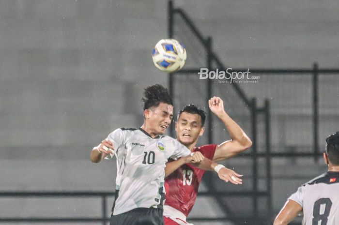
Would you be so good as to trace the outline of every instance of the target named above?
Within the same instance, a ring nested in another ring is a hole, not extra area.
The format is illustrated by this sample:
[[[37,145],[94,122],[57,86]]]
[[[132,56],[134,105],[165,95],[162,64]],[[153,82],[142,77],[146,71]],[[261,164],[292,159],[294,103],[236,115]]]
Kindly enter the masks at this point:
[[[291,195],[303,207],[303,225],[339,225],[339,172],[326,172]]]

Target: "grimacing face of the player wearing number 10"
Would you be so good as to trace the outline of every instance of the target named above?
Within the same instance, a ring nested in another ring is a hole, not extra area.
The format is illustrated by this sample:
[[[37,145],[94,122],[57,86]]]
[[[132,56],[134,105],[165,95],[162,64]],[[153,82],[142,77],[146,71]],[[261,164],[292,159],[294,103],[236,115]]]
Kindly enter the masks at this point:
[[[160,103],[157,107],[148,110],[148,126],[152,133],[164,134],[173,118],[173,105]]]

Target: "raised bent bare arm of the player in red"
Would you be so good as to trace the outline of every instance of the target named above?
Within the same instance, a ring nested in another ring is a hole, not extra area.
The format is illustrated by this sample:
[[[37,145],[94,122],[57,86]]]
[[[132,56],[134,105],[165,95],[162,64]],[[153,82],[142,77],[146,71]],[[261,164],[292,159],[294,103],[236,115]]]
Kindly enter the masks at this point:
[[[224,102],[219,97],[213,97],[208,101],[211,111],[225,124],[231,140],[225,141],[216,147],[214,161],[221,161],[252,146],[251,139],[243,129],[225,112]]]

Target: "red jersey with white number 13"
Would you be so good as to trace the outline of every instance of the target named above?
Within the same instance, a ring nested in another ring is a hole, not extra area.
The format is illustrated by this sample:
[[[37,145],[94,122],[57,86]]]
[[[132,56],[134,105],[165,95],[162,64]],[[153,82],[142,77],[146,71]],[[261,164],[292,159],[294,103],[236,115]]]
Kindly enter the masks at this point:
[[[200,151],[203,156],[212,160],[216,147],[217,145],[203,145],[194,148],[193,151]],[[197,198],[199,184],[204,174],[205,170],[190,164],[182,165],[175,170],[165,179],[165,205],[169,205],[188,216]]]

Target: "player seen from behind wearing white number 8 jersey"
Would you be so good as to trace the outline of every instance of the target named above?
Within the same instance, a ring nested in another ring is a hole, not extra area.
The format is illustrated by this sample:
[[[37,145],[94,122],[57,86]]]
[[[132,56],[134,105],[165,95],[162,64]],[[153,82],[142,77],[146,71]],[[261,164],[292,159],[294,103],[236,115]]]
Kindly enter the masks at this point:
[[[326,138],[328,171],[298,188],[274,221],[287,225],[303,212],[302,225],[339,225],[339,132]]]

